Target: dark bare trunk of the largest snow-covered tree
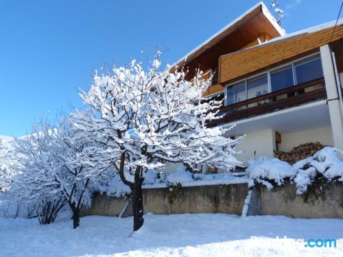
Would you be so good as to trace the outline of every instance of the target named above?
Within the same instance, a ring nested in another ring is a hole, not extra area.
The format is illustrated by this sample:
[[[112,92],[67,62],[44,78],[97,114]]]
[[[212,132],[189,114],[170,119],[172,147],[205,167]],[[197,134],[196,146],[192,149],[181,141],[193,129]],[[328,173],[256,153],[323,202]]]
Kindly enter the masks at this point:
[[[144,223],[143,219],[143,191],[141,178],[142,167],[137,167],[134,174],[134,185],[132,186],[132,210],[133,210],[133,231],[139,230]]]

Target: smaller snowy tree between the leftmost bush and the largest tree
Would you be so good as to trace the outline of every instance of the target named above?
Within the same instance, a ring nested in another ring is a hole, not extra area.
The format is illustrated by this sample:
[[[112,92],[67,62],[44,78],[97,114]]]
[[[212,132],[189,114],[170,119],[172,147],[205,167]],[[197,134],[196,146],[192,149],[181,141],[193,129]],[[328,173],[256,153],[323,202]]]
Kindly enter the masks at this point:
[[[91,205],[92,188],[108,180],[110,167],[98,143],[89,143],[84,134],[64,119],[54,140],[56,159],[61,165],[54,173],[57,188],[73,211],[73,228],[80,225],[80,209]],[[105,157],[105,158],[104,158]]]

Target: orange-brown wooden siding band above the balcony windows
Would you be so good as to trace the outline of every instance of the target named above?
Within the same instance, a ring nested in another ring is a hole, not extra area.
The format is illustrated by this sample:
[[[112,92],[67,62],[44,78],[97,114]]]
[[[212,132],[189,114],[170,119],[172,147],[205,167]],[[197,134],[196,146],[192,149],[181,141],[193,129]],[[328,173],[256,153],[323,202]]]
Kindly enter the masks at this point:
[[[300,34],[252,49],[230,53],[220,57],[220,83],[233,82],[252,73],[270,69],[301,56],[316,51],[329,43],[333,27],[311,34]],[[343,25],[336,27],[332,40],[343,38]]]

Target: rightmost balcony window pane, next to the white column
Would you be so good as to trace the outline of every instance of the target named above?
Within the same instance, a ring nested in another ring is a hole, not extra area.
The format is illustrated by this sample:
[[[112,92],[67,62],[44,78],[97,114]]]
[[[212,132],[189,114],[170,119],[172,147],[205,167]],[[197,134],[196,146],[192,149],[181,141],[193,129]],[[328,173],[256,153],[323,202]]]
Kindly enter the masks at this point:
[[[312,56],[294,64],[296,70],[296,84],[309,82],[323,77],[320,56]]]

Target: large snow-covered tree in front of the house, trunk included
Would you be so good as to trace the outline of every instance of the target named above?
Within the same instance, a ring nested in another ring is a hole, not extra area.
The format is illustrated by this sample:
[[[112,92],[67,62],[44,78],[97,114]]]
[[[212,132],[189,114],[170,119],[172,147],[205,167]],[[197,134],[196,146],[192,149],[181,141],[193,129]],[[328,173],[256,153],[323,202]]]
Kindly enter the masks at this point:
[[[219,101],[204,101],[211,79],[199,71],[189,82],[187,72],[159,71],[159,53],[144,71],[141,63],[96,74],[80,96],[86,111],[72,114],[75,126],[92,142],[102,142],[115,171],[132,191],[134,231],[143,225],[142,183],[145,172],[161,171],[166,162],[189,167],[209,164],[233,169],[238,140],[224,137],[228,129],[209,127],[218,119]]]

